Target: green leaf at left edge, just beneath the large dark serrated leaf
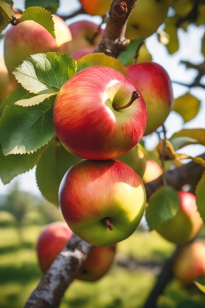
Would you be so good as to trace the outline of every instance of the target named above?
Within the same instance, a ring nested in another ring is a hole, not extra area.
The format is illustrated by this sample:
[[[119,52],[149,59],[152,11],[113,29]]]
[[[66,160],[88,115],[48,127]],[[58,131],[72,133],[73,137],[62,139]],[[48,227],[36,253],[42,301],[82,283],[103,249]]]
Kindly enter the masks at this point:
[[[0,147],[0,178],[3,184],[9,183],[18,174],[32,169],[38,162],[44,148],[33,154],[11,154],[4,156]]]

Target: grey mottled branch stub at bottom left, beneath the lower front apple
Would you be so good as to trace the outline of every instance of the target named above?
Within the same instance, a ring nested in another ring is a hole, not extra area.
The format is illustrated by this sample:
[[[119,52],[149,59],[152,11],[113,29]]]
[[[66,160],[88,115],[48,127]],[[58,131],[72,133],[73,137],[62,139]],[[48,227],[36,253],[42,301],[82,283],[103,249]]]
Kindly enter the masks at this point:
[[[31,293],[25,308],[58,308],[65,290],[75,279],[76,272],[91,248],[91,245],[73,234],[37,288]]]

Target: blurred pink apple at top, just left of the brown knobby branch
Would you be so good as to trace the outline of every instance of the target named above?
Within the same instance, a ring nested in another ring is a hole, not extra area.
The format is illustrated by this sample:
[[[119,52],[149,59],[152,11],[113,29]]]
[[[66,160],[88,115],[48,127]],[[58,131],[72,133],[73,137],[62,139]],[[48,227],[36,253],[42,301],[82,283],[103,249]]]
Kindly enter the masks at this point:
[[[69,29],[72,35],[72,43],[66,45],[66,53],[68,55],[73,54],[82,48],[93,48],[98,44],[103,30],[101,29],[99,34],[95,36],[98,32],[98,25],[88,21],[82,20],[69,25]]]

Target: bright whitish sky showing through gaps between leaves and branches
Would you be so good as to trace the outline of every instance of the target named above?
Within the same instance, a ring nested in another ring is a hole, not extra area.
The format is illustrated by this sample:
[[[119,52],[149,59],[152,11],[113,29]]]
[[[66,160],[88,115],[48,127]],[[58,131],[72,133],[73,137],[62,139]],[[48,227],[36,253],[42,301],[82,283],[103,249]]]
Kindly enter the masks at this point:
[[[75,11],[79,8],[78,0],[60,0],[61,7],[58,11],[59,14],[68,13],[68,2],[69,2],[69,11]],[[24,9],[24,0],[14,0],[14,6],[16,8]],[[83,15],[80,15],[77,19],[85,19]],[[87,19],[90,20],[89,17]],[[76,18],[69,20],[68,24],[71,23]],[[93,22],[99,23],[100,20],[98,17],[92,18]],[[180,60],[193,62],[195,64],[201,63],[203,61],[203,56],[200,54],[200,42],[203,34],[205,32],[205,26],[199,28],[195,26],[189,26],[188,31],[179,30],[179,40],[180,48],[173,56],[170,56],[164,46],[157,41],[156,34],[153,34],[149,37],[147,42],[147,48],[149,49],[153,61],[161,64],[170,75],[171,80],[183,81],[184,84],[190,84],[196,76],[196,71],[194,69],[186,69],[184,64],[180,64]],[[3,40],[0,41],[0,54],[3,54]],[[205,83],[205,78],[203,80]],[[186,92],[188,88],[180,86],[173,83],[174,96],[178,97]],[[201,110],[198,116],[186,123],[184,127],[187,128],[205,128],[205,90],[200,88],[194,88],[190,91],[193,95],[196,95],[201,100]],[[174,132],[180,130],[183,126],[182,119],[176,115],[175,112],[172,112],[168,119],[165,122],[165,127],[168,131],[168,137],[170,137]],[[155,133],[146,137],[146,145],[149,149],[153,148],[157,144],[157,135]],[[190,155],[198,155],[204,152],[204,147],[202,146],[189,146],[183,148],[181,153],[189,153]],[[39,190],[35,181],[35,170],[31,170],[23,175],[19,175],[9,184],[3,185],[0,182],[0,193],[6,193],[13,181],[18,181],[20,187],[23,190],[30,191],[32,193],[39,194]]]

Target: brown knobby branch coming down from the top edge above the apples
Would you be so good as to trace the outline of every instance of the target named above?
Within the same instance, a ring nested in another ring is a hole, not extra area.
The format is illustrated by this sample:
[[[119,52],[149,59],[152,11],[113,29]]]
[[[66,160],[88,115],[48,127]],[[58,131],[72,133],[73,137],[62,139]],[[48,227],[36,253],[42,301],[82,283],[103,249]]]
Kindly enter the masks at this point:
[[[137,0],[113,0],[106,28],[96,52],[117,58],[120,52],[126,48],[129,40],[124,36],[125,30],[136,2]]]

